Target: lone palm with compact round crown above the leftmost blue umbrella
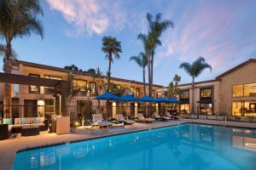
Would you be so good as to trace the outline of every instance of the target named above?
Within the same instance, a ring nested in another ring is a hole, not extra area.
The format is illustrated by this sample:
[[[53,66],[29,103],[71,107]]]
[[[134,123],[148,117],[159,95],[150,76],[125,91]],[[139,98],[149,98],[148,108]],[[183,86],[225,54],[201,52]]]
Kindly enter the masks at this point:
[[[108,59],[108,92],[110,84],[111,75],[111,63],[113,63],[113,54],[115,59],[120,59],[119,53],[122,53],[121,42],[117,41],[115,37],[103,37],[102,38],[102,51],[106,54],[106,59]]]

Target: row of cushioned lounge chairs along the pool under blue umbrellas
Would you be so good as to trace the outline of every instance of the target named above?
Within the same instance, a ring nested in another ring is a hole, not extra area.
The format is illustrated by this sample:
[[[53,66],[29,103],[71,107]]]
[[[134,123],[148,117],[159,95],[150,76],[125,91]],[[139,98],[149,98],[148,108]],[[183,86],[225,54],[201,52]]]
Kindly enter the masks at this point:
[[[166,116],[160,116],[158,113],[153,114],[154,118],[145,118],[142,113],[137,114],[137,118],[135,120],[131,119],[125,119],[125,117],[121,114],[118,114],[116,116],[116,123],[121,123],[123,126],[125,125],[132,125],[135,122],[155,122],[155,121],[168,121],[168,120],[175,120],[178,119],[177,116],[172,116],[170,113],[166,113]],[[98,126],[98,127],[111,127],[113,125],[113,122],[104,121],[102,114],[94,114],[92,116],[92,127]]]

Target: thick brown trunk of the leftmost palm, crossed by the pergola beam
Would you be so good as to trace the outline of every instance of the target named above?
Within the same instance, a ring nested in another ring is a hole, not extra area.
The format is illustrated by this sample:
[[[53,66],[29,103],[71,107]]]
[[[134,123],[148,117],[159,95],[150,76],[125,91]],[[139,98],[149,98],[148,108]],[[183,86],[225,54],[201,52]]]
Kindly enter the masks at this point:
[[[11,74],[12,71],[12,54],[11,54],[11,42],[7,42],[6,50],[5,50],[5,57],[3,58],[3,71],[5,73]],[[11,117],[11,84],[5,83],[4,84],[4,96],[3,96],[3,105],[4,108],[4,116],[6,118]]]

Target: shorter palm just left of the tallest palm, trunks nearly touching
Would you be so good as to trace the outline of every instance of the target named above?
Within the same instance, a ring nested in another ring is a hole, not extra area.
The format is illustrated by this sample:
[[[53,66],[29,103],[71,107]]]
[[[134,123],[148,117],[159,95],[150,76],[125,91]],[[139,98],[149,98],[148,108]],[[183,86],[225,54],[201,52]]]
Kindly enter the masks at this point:
[[[138,56],[131,56],[130,61],[131,60],[134,60],[139,67],[143,68],[143,86],[144,86],[144,95],[146,95],[145,68],[148,65],[148,58],[146,54],[141,52]]]

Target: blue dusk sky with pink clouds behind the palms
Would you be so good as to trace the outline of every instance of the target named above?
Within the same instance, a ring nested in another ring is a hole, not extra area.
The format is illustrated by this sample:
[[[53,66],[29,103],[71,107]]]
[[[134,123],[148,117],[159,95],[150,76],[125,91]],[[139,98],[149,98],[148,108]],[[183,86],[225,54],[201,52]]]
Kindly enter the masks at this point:
[[[100,67],[105,74],[108,60],[102,53],[102,37],[116,37],[122,45],[121,59],[113,61],[112,76],[143,80],[143,70],[132,55],[143,51],[137,40],[147,33],[146,14],[161,13],[172,20],[156,49],[154,83],[168,85],[178,74],[181,83],[191,82],[182,62],[199,56],[212,65],[196,82],[210,80],[241,62],[256,58],[255,0],[42,0],[44,39],[17,38],[13,48],[18,59],[44,65],[77,65],[86,71]],[[3,42],[3,40],[0,40]],[[0,65],[2,67],[2,65]]]

